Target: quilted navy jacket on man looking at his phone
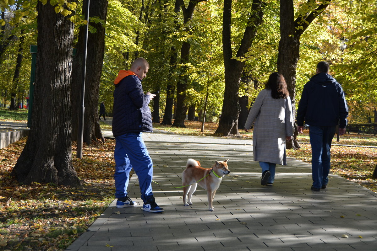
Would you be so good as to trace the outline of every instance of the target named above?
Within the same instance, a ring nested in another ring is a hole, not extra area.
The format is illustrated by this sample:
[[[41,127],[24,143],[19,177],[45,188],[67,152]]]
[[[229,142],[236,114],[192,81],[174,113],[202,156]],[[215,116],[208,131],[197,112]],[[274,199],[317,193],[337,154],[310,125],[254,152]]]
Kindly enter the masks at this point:
[[[141,81],[129,75],[115,85],[113,107],[113,135],[129,132],[152,132],[150,97],[144,94]]]

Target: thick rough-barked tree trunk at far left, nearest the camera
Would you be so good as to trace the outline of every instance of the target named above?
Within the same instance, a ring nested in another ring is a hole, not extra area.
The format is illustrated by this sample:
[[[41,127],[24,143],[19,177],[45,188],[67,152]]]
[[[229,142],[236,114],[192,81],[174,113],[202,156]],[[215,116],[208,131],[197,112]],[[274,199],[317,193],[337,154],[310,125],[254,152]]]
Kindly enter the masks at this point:
[[[71,100],[74,25],[49,3],[37,4],[38,51],[33,120],[12,170],[19,182],[78,186],[72,166]],[[74,13],[72,14],[74,15]]]

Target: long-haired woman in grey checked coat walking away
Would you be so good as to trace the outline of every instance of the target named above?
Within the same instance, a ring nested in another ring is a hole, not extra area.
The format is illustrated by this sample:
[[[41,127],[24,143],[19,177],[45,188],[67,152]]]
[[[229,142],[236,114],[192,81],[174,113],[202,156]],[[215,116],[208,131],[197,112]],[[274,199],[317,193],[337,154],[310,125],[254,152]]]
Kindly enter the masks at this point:
[[[271,73],[256,97],[245,123],[245,131],[254,125],[253,154],[262,168],[261,185],[272,186],[276,164],[287,166],[285,141],[293,136],[292,103],[283,75]]]

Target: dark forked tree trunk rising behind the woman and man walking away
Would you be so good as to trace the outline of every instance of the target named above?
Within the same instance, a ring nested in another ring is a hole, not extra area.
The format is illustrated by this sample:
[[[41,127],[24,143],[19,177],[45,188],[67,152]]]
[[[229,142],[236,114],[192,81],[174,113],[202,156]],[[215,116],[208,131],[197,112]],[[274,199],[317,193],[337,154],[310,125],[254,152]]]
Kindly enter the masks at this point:
[[[310,2],[313,2],[313,0],[308,0],[308,3]],[[296,68],[300,59],[300,37],[314,18],[327,8],[329,2],[323,1],[323,4],[318,5],[316,9],[302,13],[294,20],[293,0],[280,1],[280,41],[277,71],[284,76],[287,82],[294,118],[296,117]],[[297,135],[297,125],[294,123],[293,140],[287,142],[287,149],[300,148],[296,139]]]

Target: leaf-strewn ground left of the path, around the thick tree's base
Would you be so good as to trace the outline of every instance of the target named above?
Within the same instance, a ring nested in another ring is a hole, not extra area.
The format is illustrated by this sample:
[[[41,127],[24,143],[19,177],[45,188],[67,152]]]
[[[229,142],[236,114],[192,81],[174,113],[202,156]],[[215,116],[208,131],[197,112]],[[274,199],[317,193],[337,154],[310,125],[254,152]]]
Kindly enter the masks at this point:
[[[19,184],[10,176],[26,138],[0,149],[0,246],[11,250],[64,250],[114,199],[114,140],[83,147],[73,159],[83,185]],[[75,146],[73,154],[75,156]]]

